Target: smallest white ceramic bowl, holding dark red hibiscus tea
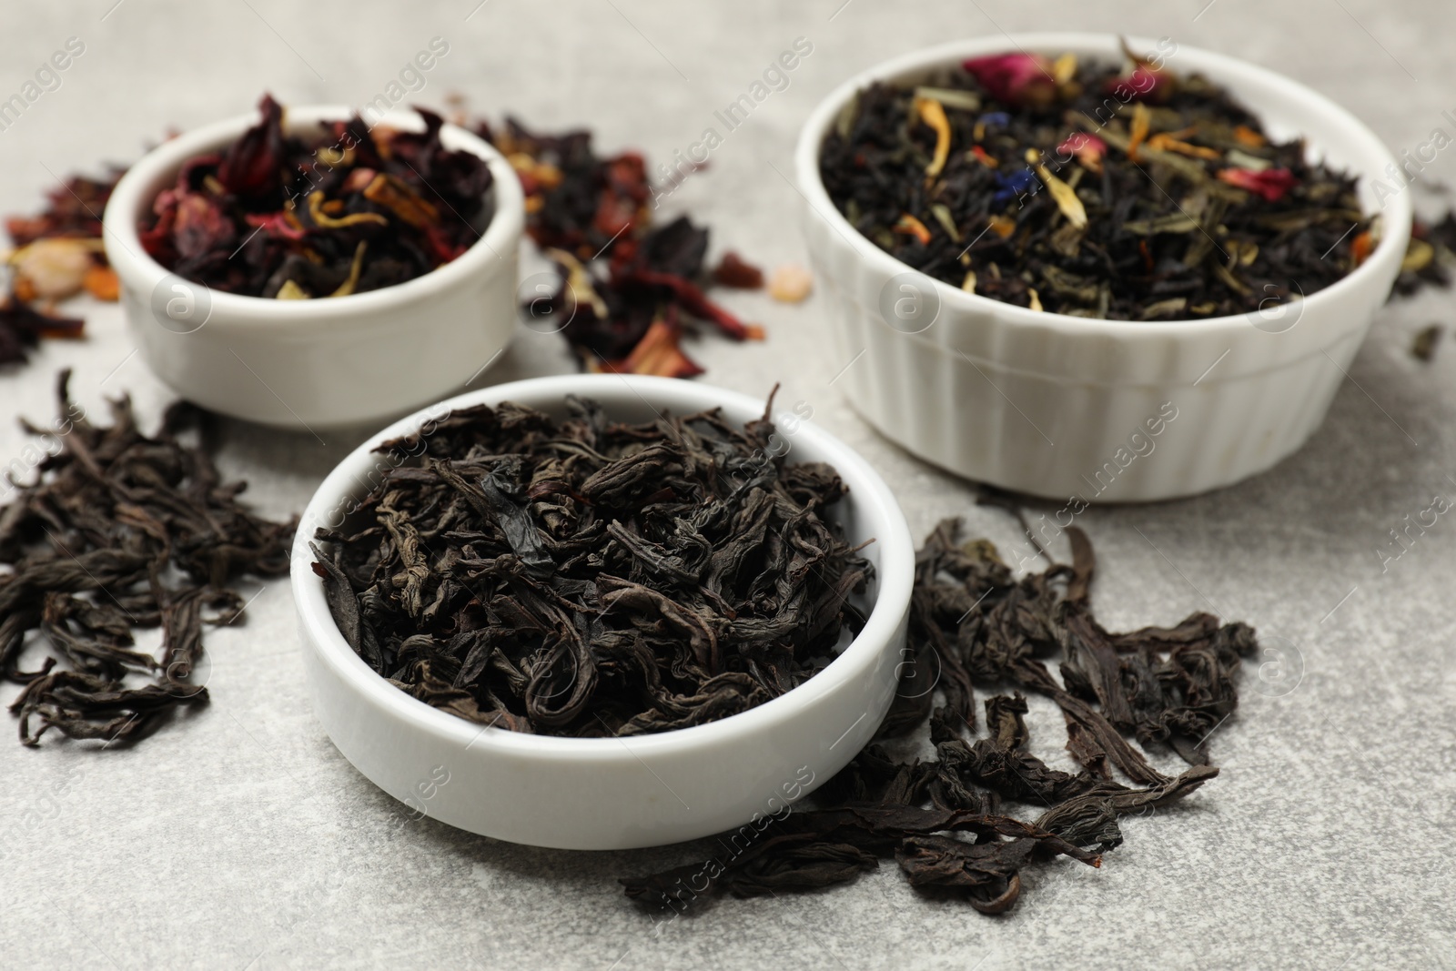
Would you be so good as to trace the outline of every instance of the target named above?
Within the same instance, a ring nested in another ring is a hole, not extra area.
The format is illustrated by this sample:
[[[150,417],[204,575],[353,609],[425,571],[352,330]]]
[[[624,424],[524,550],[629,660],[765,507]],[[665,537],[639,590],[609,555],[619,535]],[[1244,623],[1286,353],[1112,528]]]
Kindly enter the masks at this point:
[[[290,108],[285,125],[312,134],[320,119],[351,114]],[[122,176],[106,205],[106,258],[151,370],[204,408],[284,428],[377,422],[459,390],[515,329],[526,210],[510,163],[463,128],[441,130],[447,148],[489,165],[494,214],[470,249],[424,277],[336,298],[240,297],[167,272],[143,250],[137,227],[182,163],[227,146],[256,121],[256,114],[233,118],[163,143]],[[414,112],[384,121],[422,127]]]

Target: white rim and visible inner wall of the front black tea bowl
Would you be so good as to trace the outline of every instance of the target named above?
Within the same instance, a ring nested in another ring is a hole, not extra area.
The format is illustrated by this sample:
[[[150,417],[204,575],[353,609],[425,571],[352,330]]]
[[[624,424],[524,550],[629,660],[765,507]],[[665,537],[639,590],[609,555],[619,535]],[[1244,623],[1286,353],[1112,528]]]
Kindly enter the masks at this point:
[[[293,550],[293,584],[300,613],[320,649],[325,651],[331,662],[342,667],[358,690],[368,693],[373,700],[389,705],[396,712],[406,713],[411,721],[435,731],[446,731],[466,740],[479,737],[478,725],[431,708],[395,689],[370,670],[348,646],[328,610],[323,584],[309,568],[313,560],[309,540],[313,537],[314,527],[320,524],[331,528],[338,527],[354,502],[370,492],[383,472],[393,467],[389,460],[383,460],[381,456],[371,451],[379,443],[409,434],[425,427],[427,422],[444,421],[453,411],[482,403],[496,405],[511,400],[563,418],[568,393],[597,400],[612,421],[623,422],[649,422],[667,412],[683,416],[713,406],[722,408],[725,418],[740,425],[763,413],[761,400],[703,384],[636,376],[565,376],[531,379],[463,395],[402,419],[361,445],[325,479],[304,511]],[[706,745],[716,738],[782,721],[834,686],[862,677],[877,661],[879,651],[888,643],[904,614],[910,598],[914,552],[909,527],[888,486],[863,459],[827,432],[812,427],[812,422],[804,422],[792,435],[783,435],[783,438],[789,447],[788,461],[826,461],[834,466],[849,486],[849,494],[836,505],[833,518],[843,527],[850,543],[874,540],[862,552],[875,565],[875,578],[863,603],[859,604],[866,613],[865,627],[843,646],[840,655],[824,671],[792,691],[716,722],[635,737],[633,747],[636,748],[655,744],[702,742]],[[491,729],[475,744],[478,747],[486,744],[527,747],[536,751],[545,747],[574,756],[591,751],[620,754],[613,742],[614,740],[610,738],[520,735],[505,729]]]

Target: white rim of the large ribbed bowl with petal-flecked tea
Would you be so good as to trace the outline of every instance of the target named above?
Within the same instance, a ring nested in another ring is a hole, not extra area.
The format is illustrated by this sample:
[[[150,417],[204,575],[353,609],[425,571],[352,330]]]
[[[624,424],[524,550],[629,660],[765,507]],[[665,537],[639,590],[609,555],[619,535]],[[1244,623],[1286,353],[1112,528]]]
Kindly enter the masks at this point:
[[[1047,313],[1031,310],[1028,307],[1018,307],[1016,304],[1002,303],[1000,300],[992,300],[990,297],[983,297],[980,294],[970,294],[960,287],[952,287],[951,284],[936,280],[922,271],[910,266],[909,263],[900,262],[885,250],[879,249],[871,239],[863,236],[859,230],[849,224],[849,220],[843,217],[834,202],[828,198],[828,192],[824,189],[824,182],[820,178],[818,156],[820,146],[824,141],[826,134],[828,134],[830,125],[839,116],[843,106],[853,98],[858,92],[868,87],[877,80],[894,80],[903,74],[910,74],[919,70],[935,68],[935,67],[957,67],[960,63],[968,57],[984,57],[993,54],[1031,51],[1041,54],[1060,54],[1067,49],[1095,49],[1107,48],[1109,54],[1118,51],[1117,47],[1118,35],[1115,33],[1089,33],[1089,32],[1032,32],[1032,33],[1008,33],[1000,36],[981,36],[970,38],[961,41],[949,41],[946,44],[938,44],[929,48],[920,48],[911,51],[910,54],[903,54],[894,57],[888,61],[881,61],[874,67],[855,74],[844,83],[839,84],[828,96],[824,98],[804,122],[804,128],[799,132],[799,143],[795,150],[795,175],[798,176],[799,191],[804,192],[812,210],[840,234],[849,240],[862,240],[863,246],[853,246],[859,253],[860,259],[871,263],[877,272],[884,272],[888,277],[903,272],[920,274],[926,280],[935,284],[936,293],[941,300],[952,307],[964,312],[981,312],[981,313],[996,313],[1000,319],[1012,325],[1026,325],[1042,328],[1053,333],[1088,333],[1095,329],[1096,332],[1107,333],[1114,338],[1139,338],[1139,336],[1172,336],[1172,335],[1207,335],[1207,333],[1222,333],[1233,332],[1239,333],[1248,330],[1249,319],[1246,313],[1224,316],[1224,317],[1204,317],[1204,319],[1190,319],[1190,320],[1105,320],[1093,317],[1075,317],[1063,313]],[[1158,49],[1158,42],[1150,38],[1133,36],[1127,38],[1127,44],[1131,49]],[[1192,71],[1207,71],[1210,74],[1245,74],[1259,80],[1264,84],[1283,87],[1286,93],[1293,98],[1309,102],[1316,106],[1321,112],[1332,114],[1341,118],[1342,124],[1350,130],[1353,140],[1367,143],[1367,147],[1376,153],[1383,153],[1393,162],[1395,157],[1390,156],[1390,150],[1380,141],[1379,137],[1364,122],[1351,115],[1348,111],[1341,108],[1338,103],[1325,98],[1324,95],[1294,82],[1277,71],[1271,71],[1248,61],[1241,61],[1235,57],[1226,54],[1216,54],[1213,51],[1206,51],[1203,48],[1188,47],[1184,44],[1178,45],[1176,55],[1174,55],[1176,64],[1175,71],[1192,73]],[[1171,58],[1171,60],[1174,60]],[[1248,105],[1248,109],[1255,115],[1259,114],[1258,105]],[[1315,146],[1318,148],[1319,146]],[[1369,175],[1364,172],[1358,173],[1361,178]],[[1366,258],[1363,263],[1354,268],[1354,271],[1345,274],[1331,285],[1324,290],[1318,290],[1307,297],[1305,297],[1306,304],[1312,301],[1319,303],[1334,303],[1344,297],[1345,291],[1353,288],[1356,278],[1363,274],[1374,274],[1376,263],[1389,259],[1389,252],[1395,246],[1405,247],[1408,237],[1408,229],[1412,218],[1412,207],[1409,192],[1398,192],[1390,197],[1389,208],[1382,208],[1376,213],[1380,218],[1380,243],[1376,249]],[[1405,230],[1402,231],[1402,227]],[[1313,304],[1318,306],[1318,304]],[[1306,307],[1307,312],[1307,307]]]

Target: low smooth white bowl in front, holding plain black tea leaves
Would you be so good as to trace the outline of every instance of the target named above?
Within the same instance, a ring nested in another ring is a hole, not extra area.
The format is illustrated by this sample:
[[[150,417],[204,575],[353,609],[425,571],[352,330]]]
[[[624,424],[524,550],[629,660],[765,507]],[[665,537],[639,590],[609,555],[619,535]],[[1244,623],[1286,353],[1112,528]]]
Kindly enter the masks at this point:
[[[574,850],[658,846],[764,825],[839,772],[890,708],[903,661],[914,543],[878,473],[810,422],[785,435],[791,461],[827,461],[849,495],[839,520],[850,542],[874,539],[868,622],[843,654],[799,687],[718,722],[633,738],[524,735],[431,708],[381,678],[344,641],[309,540],[338,527],[389,469],[373,454],[451,411],[511,400],[565,416],[566,395],[596,399],[619,421],[721,406],[737,424],[763,402],[706,384],[638,376],[539,377],[462,395],[405,418],[329,473],[303,514],[293,547],[313,710],[344,757],[411,809],[485,836]],[[747,839],[747,834],[745,834]]]

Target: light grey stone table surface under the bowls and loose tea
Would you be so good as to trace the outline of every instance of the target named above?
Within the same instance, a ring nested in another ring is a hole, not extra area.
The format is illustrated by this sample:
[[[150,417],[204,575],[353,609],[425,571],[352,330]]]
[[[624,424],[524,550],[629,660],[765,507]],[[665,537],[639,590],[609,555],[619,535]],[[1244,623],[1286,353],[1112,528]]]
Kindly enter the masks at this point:
[[[0,131],[0,211],[29,211],[54,176],[127,160],[169,128],[284,102],[358,105],[434,36],[448,54],[412,100],[450,92],[530,124],[590,122],[604,148],[670,159],[795,38],[812,54],[689,179],[713,246],[804,261],[791,173],[795,132],[849,73],[936,41],[1031,29],[1172,36],[1281,70],[1347,105],[1398,150],[1456,108],[1456,12],[1440,0],[1178,0],[1022,4],[738,0],[95,0],[0,13],[0,98],[67,38],[84,52]],[[1418,204],[1449,204],[1440,156]],[[884,472],[917,536],[941,517],[1012,542],[973,489],[869,431],[830,384],[815,297],[727,303],[763,344],[712,336],[705,380],[788,400]],[[47,419],[57,368],[89,409],[130,393],[147,421],[170,393],[132,352],[115,307],[79,306],[87,338],[51,342],[0,374],[0,460]],[[614,878],[705,859],[711,843],[632,853],[510,846],[405,809],[361,777],[309,709],[285,582],[245,590],[246,623],[208,633],[213,703],[134,748],[47,738],[0,744],[0,965],[482,968],[1453,967],[1450,824],[1456,796],[1456,524],[1441,518],[1382,568],[1402,517],[1456,494],[1456,348],[1423,364],[1415,330],[1456,323],[1450,297],[1385,307],[1312,441],[1213,495],[1096,508],[1095,591],[1108,625],[1216,610],[1255,625],[1302,671],[1287,693],[1246,691],[1211,740],[1223,774],[1178,811],[1125,824],[1101,871],[1028,875],[1021,905],[987,919],[917,897],[891,863],[856,884],[725,900],[654,932]],[[558,338],[521,329],[482,381],[571,368]],[[226,427],[229,475],[268,514],[298,511],[371,429],[310,435]],[[1273,641],[1277,638],[1278,641]],[[1255,665],[1249,665],[1255,683]],[[13,696],[13,686],[4,689]],[[1037,708],[1034,732],[1059,719]],[[1064,753],[1038,748],[1057,764]]]

